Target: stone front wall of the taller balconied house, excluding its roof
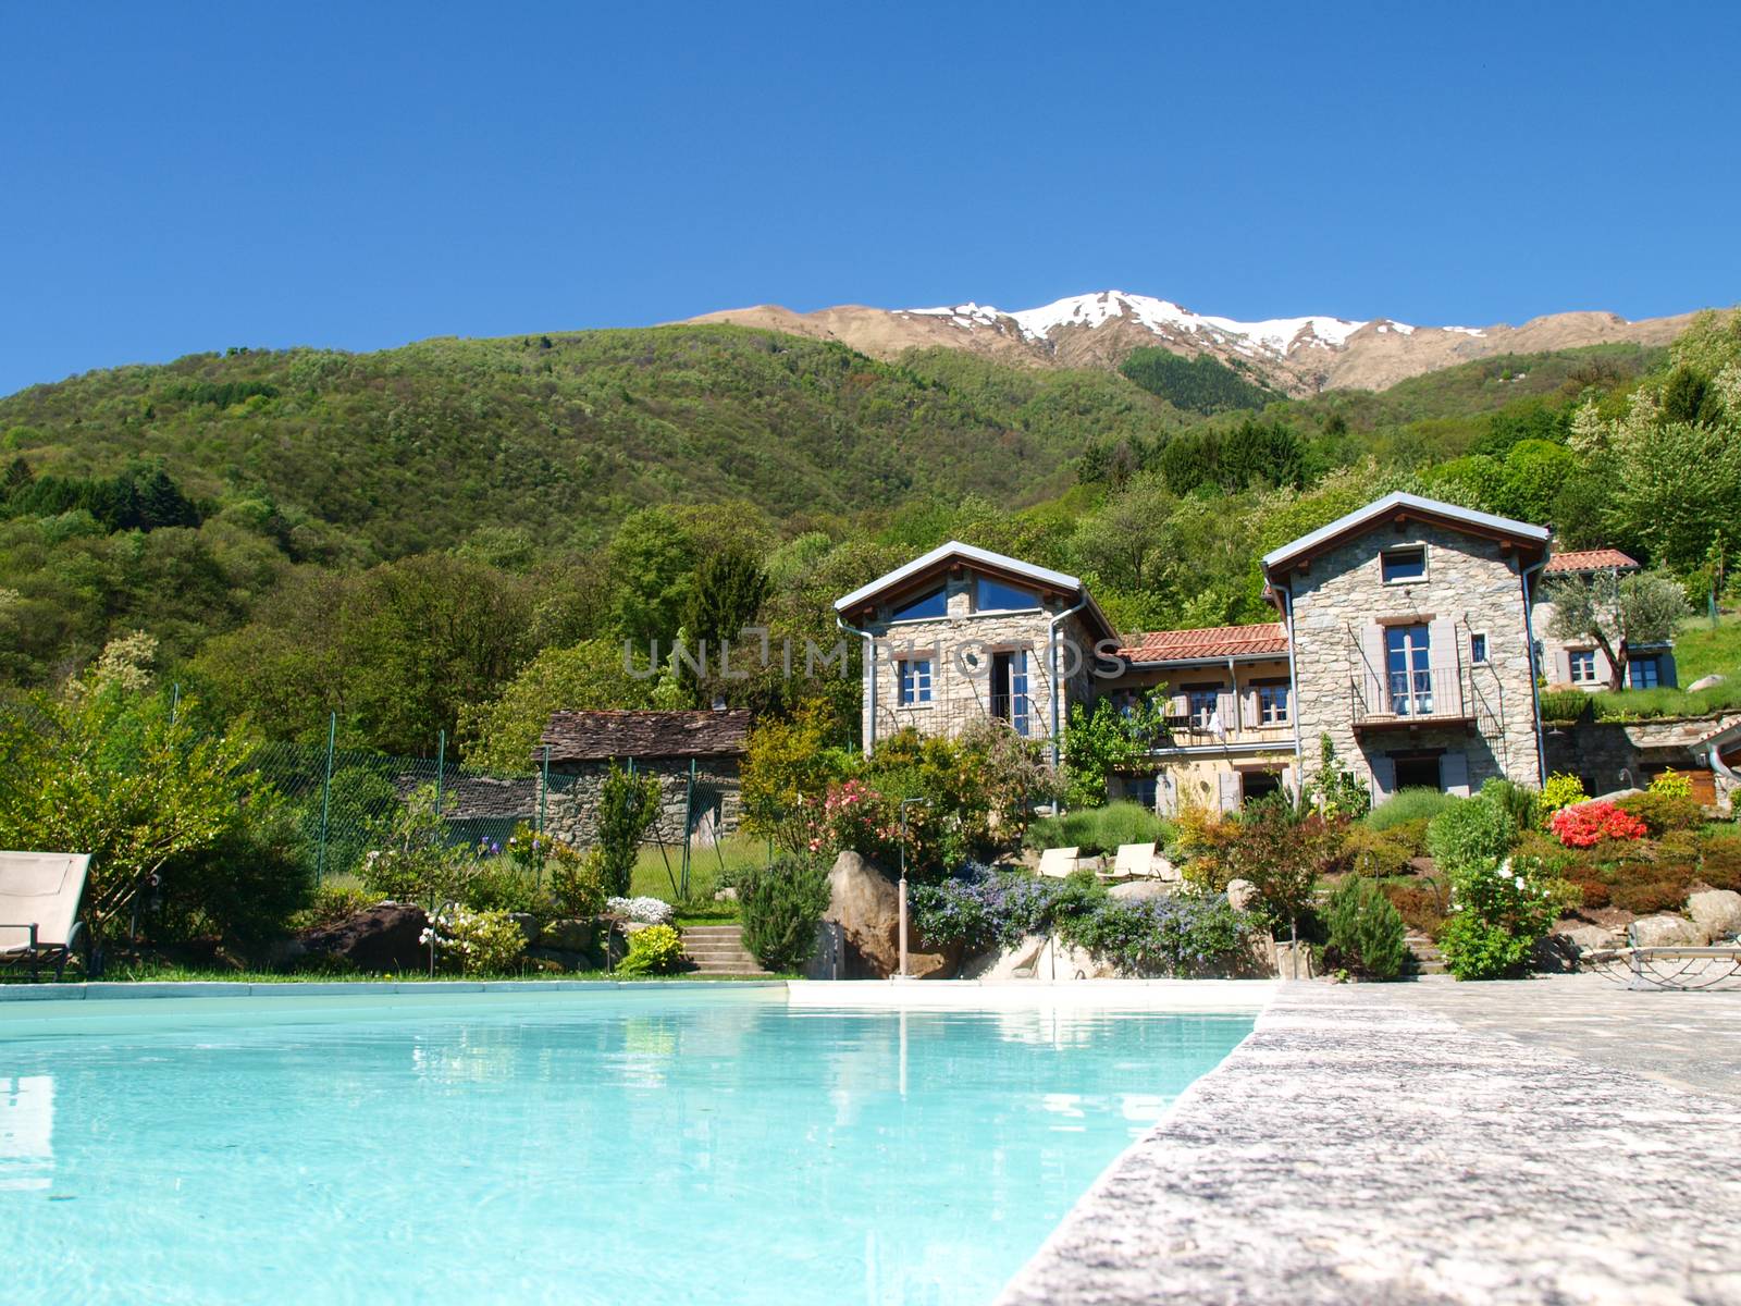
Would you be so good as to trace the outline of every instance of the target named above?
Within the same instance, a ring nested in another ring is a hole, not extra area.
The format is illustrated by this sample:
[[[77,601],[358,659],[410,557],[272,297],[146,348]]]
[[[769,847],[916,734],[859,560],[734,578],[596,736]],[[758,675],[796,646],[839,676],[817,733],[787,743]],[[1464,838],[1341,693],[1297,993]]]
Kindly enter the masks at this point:
[[[1407,547],[1424,547],[1426,575],[1386,583],[1381,554]],[[1419,782],[1424,759],[1435,756],[1447,792],[1473,792],[1492,777],[1541,784],[1523,578],[1497,540],[1414,519],[1400,529],[1382,521],[1274,583],[1292,594],[1306,778],[1316,773],[1318,740],[1328,733],[1375,801]],[[1393,710],[1391,625],[1428,632],[1428,679],[1419,684],[1429,684],[1429,698],[1414,714]],[[1485,646],[1480,662],[1476,643]]]

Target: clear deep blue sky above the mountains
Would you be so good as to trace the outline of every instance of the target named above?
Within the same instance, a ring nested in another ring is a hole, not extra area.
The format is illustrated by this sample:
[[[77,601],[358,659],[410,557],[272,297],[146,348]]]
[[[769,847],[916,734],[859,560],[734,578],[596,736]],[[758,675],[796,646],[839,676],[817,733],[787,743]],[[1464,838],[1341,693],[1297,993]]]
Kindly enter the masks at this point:
[[[0,394],[764,301],[1727,305],[1738,49],[1717,3],[16,3]]]

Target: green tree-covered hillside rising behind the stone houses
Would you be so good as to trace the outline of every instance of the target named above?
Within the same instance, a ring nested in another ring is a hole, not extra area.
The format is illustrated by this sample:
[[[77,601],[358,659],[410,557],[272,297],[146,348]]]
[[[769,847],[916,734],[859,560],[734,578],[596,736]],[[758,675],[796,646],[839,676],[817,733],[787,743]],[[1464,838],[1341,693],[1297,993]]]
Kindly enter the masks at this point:
[[[1395,488],[1692,590],[1741,519],[1734,315],[1673,357],[1487,359],[1382,394],[1271,401],[1203,359],[1132,376],[686,326],[33,387],[0,401],[0,677],[50,684],[138,629],[268,737],[338,712],[346,742],[447,730],[514,761],[552,705],[712,693],[629,677],[623,637],[759,616],[832,639],[832,597],[949,536],[1081,573],[1146,629],[1262,618],[1264,549]],[[855,693],[728,688],[841,723]]]

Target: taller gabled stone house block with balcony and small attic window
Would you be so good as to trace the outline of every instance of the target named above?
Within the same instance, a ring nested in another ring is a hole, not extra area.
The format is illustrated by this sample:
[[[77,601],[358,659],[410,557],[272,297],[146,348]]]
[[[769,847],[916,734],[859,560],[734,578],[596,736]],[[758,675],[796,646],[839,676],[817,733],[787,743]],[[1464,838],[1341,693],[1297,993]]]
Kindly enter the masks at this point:
[[[1382,803],[1543,782],[1530,611],[1544,526],[1386,495],[1264,555],[1294,667],[1301,778],[1328,735]]]

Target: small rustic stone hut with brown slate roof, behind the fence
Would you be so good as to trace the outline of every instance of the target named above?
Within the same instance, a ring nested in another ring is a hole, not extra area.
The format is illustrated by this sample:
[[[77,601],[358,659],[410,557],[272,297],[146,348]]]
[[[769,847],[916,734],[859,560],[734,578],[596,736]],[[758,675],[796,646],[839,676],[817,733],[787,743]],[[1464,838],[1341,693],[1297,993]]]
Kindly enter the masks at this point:
[[[552,712],[533,751],[548,768],[545,831],[576,848],[597,839],[599,787],[611,764],[653,775],[660,815],[648,841],[714,843],[738,827],[738,768],[749,744],[747,710]]]

